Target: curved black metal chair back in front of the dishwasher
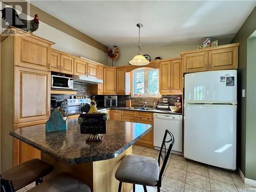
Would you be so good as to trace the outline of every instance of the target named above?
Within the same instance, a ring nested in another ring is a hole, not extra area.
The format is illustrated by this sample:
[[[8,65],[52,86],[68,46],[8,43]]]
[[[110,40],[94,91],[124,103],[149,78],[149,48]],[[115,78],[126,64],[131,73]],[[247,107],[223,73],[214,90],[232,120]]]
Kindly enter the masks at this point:
[[[168,138],[167,138],[168,136]],[[169,147],[168,150],[166,152],[166,143],[169,143]],[[159,152],[159,156],[158,156],[158,165],[160,166],[160,160],[162,159],[163,161],[163,165],[161,167],[160,170],[160,174],[159,174],[159,179],[158,179],[158,186],[161,187],[161,182],[162,182],[162,177],[163,177],[163,173],[164,173],[164,169],[166,167],[168,158],[170,156],[170,152],[172,151],[174,145],[174,136],[173,134],[169,131],[169,130],[165,130],[164,133],[164,137],[163,137],[163,142],[161,145],[161,150]]]

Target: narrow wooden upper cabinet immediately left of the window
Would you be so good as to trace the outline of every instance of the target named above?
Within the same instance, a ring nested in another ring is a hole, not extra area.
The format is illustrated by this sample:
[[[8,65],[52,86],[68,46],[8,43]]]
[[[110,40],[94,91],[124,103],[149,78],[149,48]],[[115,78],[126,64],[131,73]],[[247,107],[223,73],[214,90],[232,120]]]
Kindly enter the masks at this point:
[[[126,68],[116,70],[116,93],[119,95],[131,94],[131,72],[126,72]]]

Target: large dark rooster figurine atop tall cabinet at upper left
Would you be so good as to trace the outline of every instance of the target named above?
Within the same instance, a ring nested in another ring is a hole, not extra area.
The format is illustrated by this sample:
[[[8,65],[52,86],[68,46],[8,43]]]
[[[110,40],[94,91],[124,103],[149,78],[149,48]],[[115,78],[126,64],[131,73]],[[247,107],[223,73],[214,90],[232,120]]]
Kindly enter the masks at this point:
[[[38,29],[39,19],[37,14],[35,14],[34,19],[26,20],[19,18],[18,13],[15,9],[7,7],[1,10],[2,18],[8,22],[9,25],[23,29],[24,31],[34,32]]]

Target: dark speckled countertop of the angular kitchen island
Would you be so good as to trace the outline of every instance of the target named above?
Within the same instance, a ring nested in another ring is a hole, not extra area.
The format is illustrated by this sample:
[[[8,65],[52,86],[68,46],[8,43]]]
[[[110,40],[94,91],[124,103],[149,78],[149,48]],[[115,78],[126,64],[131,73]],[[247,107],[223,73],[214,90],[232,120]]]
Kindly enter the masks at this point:
[[[45,132],[45,124],[24,127],[10,135],[66,164],[112,159],[151,131],[150,124],[108,120],[102,142],[86,143],[77,119],[69,119],[67,131]]]

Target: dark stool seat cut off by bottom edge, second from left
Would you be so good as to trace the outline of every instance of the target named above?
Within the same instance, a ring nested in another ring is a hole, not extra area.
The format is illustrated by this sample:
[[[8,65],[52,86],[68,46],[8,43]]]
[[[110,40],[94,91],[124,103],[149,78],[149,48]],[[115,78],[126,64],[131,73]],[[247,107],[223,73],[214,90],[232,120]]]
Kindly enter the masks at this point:
[[[29,192],[90,192],[90,187],[69,173],[60,173],[28,190]]]

